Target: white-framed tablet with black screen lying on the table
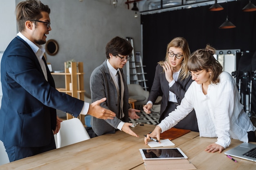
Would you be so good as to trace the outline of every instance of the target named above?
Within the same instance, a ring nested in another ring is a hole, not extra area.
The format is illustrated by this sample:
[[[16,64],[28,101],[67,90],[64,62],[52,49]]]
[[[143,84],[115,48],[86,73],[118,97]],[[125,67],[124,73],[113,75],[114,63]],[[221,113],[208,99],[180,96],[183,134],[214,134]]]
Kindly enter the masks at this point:
[[[180,148],[148,148],[139,149],[139,151],[144,160],[188,158]]]

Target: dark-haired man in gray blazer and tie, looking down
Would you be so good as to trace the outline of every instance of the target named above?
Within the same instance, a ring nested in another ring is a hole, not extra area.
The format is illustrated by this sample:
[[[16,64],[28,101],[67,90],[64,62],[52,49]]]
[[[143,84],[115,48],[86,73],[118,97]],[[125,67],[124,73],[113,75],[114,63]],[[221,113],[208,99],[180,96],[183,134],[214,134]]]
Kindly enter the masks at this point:
[[[122,130],[129,135],[139,137],[130,129],[131,119],[138,119],[136,112],[140,110],[130,108],[128,103],[128,87],[124,79],[122,68],[132,52],[132,46],[127,40],[115,37],[106,45],[107,60],[94,69],[90,77],[90,88],[92,102],[106,97],[107,100],[101,103],[103,108],[116,113],[112,120],[101,120],[95,117],[91,118],[92,130],[96,135],[115,133],[117,129]]]

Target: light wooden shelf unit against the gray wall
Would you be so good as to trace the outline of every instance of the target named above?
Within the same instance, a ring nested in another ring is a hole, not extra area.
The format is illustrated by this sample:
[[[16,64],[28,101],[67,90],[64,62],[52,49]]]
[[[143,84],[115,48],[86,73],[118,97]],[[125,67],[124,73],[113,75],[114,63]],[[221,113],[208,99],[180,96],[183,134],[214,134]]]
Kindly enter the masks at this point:
[[[84,85],[83,85],[83,62],[72,62],[72,73],[69,72],[69,68],[66,68],[66,62],[64,63],[65,73],[52,73],[52,75],[65,75],[65,88],[56,88],[59,92],[66,93],[77,99],[84,101]],[[71,86],[70,86],[71,83]],[[79,119],[85,125],[85,115],[79,115]],[[74,118],[67,113],[67,119]]]

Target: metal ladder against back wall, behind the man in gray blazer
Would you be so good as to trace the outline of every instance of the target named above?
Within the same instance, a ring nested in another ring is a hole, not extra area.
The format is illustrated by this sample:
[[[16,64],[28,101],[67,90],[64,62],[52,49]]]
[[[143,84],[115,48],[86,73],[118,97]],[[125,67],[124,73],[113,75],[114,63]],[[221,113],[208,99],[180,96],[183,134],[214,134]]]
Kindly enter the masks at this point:
[[[133,47],[132,38],[126,37],[126,40],[129,41]],[[144,73],[145,66],[142,65],[142,57],[139,52],[136,52],[135,56],[134,49],[132,50],[131,57],[132,60],[128,61],[126,64],[127,84],[139,84],[145,91],[147,91],[147,80],[145,79],[146,73]]]

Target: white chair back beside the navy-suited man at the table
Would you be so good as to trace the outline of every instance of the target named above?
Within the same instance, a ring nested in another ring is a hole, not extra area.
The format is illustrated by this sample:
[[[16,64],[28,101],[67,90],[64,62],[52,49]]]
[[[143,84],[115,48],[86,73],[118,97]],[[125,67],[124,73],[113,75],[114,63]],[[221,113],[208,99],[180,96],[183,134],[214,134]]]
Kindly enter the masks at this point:
[[[90,139],[82,122],[78,118],[63,120],[61,128],[57,133],[56,148],[75,144]]]

